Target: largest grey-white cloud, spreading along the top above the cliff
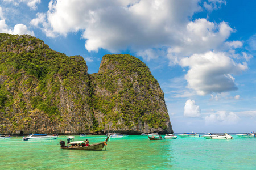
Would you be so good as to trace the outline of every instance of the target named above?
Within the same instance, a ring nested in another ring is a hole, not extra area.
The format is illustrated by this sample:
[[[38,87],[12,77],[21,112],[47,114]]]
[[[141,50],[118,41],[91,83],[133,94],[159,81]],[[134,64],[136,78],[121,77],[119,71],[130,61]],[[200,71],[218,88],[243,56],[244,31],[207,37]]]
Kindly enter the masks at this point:
[[[83,31],[85,48],[89,51],[146,50],[175,43],[176,30],[183,28],[188,18],[200,10],[198,2],[51,1],[47,23],[57,35]]]

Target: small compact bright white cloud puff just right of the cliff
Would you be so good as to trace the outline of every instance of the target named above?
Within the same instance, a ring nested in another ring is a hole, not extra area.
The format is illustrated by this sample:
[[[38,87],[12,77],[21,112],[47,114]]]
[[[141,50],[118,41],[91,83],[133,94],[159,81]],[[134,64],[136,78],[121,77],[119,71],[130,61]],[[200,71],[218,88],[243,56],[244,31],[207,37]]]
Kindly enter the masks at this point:
[[[200,117],[201,109],[196,105],[194,100],[187,100],[184,106],[184,116],[186,117]]]

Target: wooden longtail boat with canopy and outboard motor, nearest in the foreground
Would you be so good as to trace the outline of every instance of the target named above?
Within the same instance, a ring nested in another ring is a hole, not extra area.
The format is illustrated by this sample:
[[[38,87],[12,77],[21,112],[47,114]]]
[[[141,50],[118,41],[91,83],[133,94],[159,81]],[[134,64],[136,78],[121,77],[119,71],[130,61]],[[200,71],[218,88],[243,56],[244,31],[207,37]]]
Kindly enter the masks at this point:
[[[65,145],[64,141],[60,141],[60,148],[67,150],[86,150],[86,151],[101,151],[105,145],[107,145],[109,136],[106,138],[104,142],[89,144],[85,146],[85,141],[75,141],[71,142],[68,145]]]

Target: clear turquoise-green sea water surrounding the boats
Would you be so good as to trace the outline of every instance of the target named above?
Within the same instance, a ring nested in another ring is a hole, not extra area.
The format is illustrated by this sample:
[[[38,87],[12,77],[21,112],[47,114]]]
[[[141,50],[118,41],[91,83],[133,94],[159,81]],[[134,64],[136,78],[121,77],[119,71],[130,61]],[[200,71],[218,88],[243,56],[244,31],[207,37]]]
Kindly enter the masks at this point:
[[[150,141],[147,136],[110,138],[106,150],[61,150],[60,140],[0,141],[1,169],[256,169],[256,138],[209,140],[200,138]],[[164,135],[162,135],[164,137]],[[90,143],[106,137],[88,136]]]

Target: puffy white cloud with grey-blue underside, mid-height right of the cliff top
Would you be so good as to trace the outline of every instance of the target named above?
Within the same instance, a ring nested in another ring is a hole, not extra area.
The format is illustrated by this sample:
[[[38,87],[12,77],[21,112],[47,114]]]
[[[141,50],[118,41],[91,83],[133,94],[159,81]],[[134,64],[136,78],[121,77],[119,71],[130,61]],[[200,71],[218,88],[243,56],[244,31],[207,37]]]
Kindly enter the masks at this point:
[[[185,75],[187,87],[198,95],[237,90],[232,74],[240,74],[247,69],[246,63],[236,63],[224,53],[214,52],[193,54],[181,59],[180,65],[189,67]]]

